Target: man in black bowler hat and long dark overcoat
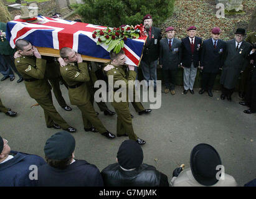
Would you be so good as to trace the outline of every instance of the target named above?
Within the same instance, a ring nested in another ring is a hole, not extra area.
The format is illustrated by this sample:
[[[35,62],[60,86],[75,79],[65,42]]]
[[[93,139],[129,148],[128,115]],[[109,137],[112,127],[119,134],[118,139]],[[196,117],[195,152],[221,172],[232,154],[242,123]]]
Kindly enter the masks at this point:
[[[224,67],[220,76],[222,94],[220,99],[231,101],[235,85],[240,73],[249,65],[250,44],[244,41],[245,29],[237,29],[235,39],[226,42],[227,50],[224,55]]]

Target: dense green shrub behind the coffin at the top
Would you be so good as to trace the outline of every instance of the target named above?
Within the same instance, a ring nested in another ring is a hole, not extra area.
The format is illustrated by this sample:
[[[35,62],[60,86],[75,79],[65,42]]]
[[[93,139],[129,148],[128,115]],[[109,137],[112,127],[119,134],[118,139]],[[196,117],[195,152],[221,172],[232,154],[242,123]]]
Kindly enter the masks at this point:
[[[151,14],[154,25],[161,24],[173,14],[175,0],[83,0],[73,7],[89,24],[118,27],[141,24]]]

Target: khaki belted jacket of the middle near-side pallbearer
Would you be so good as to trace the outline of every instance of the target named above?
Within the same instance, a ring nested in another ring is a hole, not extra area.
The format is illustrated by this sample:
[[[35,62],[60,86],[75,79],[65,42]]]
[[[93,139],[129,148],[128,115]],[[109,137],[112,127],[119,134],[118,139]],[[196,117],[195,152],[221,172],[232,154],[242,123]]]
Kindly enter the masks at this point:
[[[60,67],[60,73],[69,86],[84,82],[77,88],[69,88],[69,99],[72,105],[83,105],[90,102],[88,85],[85,83],[90,81],[87,63],[82,62],[78,65],[68,63],[65,67]]]

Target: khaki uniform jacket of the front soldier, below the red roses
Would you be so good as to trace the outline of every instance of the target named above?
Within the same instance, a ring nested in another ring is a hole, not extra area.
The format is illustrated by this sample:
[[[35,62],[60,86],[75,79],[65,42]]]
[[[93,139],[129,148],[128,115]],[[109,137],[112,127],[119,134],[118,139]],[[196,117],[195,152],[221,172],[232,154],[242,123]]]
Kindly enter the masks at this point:
[[[136,72],[133,70],[130,70],[128,73],[128,76],[126,76],[126,66],[115,66],[115,68],[112,68],[111,70],[108,70],[107,75],[113,75],[113,85],[115,85],[115,82],[118,80],[122,80],[126,84],[126,102],[117,102],[115,101],[115,98],[113,99],[112,106],[114,108],[121,108],[123,107],[123,103],[128,103],[128,81],[132,80],[135,81],[136,79]],[[122,85],[124,86],[124,85]],[[121,86],[120,86],[121,87]],[[119,94],[119,97],[121,98],[121,91],[119,91],[119,88],[113,88],[114,96]]]

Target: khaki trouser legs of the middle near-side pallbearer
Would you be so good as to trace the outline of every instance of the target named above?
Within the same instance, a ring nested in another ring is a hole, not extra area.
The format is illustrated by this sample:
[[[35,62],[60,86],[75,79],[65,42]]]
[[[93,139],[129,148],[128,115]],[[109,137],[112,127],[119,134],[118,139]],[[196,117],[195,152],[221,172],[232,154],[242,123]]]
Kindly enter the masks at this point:
[[[83,118],[83,126],[86,129],[89,129],[90,127],[95,127],[95,129],[98,130],[101,134],[103,132],[106,132],[107,129],[103,126],[100,119],[98,119],[98,116],[92,106],[92,103],[88,102],[83,105],[77,105],[77,107],[82,112],[82,118]]]

